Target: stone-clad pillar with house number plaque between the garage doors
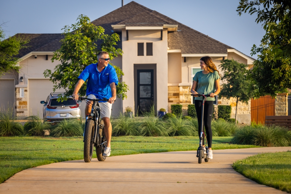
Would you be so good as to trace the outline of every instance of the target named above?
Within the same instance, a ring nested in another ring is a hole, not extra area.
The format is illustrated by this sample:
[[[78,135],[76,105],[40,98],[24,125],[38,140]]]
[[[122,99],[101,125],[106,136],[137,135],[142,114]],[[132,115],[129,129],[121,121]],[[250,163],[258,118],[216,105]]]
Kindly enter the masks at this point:
[[[28,117],[27,88],[24,88],[24,97],[20,98],[19,88],[16,88],[16,116],[17,118]]]

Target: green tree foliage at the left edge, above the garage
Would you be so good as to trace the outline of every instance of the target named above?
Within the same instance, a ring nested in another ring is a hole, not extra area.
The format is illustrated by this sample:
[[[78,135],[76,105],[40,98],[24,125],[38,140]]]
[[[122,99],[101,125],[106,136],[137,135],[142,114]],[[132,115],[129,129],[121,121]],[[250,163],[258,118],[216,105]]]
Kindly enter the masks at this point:
[[[17,55],[19,50],[26,48],[25,44],[29,42],[19,35],[5,39],[5,33],[1,28],[4,24],[0,25],[0,76],[5,72],[19,71],[20,66],[16,65],[19,62]]]

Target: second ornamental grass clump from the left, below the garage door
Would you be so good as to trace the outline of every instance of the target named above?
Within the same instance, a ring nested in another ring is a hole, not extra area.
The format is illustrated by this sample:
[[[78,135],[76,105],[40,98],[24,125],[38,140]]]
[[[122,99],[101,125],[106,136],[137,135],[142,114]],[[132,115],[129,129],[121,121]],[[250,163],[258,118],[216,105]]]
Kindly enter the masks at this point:
[[[38,116],[30,116],[28,121],[24,124],[24,131],[26,135],[30,136],[44,136],[45,130],[49,130],[51,124],[43,122]]]

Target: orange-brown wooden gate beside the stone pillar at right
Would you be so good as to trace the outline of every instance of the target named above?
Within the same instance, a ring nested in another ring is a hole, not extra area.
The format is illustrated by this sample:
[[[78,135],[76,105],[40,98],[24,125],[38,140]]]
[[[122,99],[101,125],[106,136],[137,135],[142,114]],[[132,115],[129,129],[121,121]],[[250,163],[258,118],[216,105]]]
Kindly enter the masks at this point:
[[[266,116],[275,115],[275,98],[271,96],[251,100],[251,121],[265,123]]]

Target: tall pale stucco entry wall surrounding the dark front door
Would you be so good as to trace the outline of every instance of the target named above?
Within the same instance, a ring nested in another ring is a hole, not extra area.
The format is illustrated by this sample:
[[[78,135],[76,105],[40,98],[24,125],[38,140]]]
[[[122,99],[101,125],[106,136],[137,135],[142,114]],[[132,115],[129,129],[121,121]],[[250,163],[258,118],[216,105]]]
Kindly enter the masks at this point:
[[[123,100],[125,107],[134,107],[134,64],[156,64],[157,68],[157,110],[168,107],[168,53],[167,30],[163,31],[163,40],[160,40],[160,30],[129,30],[129,40],[126,40],[126,31],[122,31],[122,69],[123,81],[129,86],[127,99]],[[137,43],[144,42],[145,56],[137,56]],[[153,56],[146,56],[146,42],[153,43]]]

